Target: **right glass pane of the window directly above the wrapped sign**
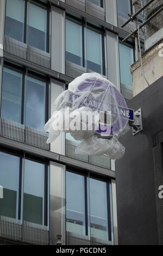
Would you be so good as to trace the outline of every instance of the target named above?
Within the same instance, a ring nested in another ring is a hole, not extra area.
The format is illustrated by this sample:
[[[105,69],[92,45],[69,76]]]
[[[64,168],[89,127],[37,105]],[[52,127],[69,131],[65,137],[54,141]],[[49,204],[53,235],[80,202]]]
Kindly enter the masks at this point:
[[[86,30],[87,69],[103,74],[102,35],[91,29]]]

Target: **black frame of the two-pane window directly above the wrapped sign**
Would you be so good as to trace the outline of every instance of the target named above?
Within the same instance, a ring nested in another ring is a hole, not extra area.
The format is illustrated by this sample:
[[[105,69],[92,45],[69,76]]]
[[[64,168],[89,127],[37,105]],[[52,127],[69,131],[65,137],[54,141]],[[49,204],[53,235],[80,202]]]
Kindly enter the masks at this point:
[[[75,17],[71,14],[66,13],[66,17],[65,17],[65,26],[66,26],[66,19],[70,19],[72,22],[79,22],[82,26],[82,45],[83,45],[83,68],[86,67],[86,63],[85,63],[85,53],[86,53],[86,38],[85,38],[85,29],[87,27],[89,27],[90,29],[94,29],[95,31],[99,32],[102,35],[102,70],[103,70],[103,74],[106,76],[106,54],[105,54],[105,29],[104,27],[96,27],[95,25],[92,25],[91,23],[87,22],[84,18],[79,19],[78,17]],[[65,42],[66,42],[66,29],[65,29]],[[65,43],[66,45],[66,43]],[[66,56],[66,47],[65,47],[65,56]],[[65,70],[66,70],[66,58],[65,58]]]

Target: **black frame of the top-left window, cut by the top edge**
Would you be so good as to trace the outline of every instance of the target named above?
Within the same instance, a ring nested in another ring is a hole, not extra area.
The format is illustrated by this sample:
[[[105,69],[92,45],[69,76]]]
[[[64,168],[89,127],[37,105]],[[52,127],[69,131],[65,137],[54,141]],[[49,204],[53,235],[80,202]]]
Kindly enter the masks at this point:
[[[39,4],[42,5],[42,7],[46,8],[47,10],[47,35],[46,35],[46,52],[50,53],[51,47],[50,47],[50,11],[51,11],[51,5],[49,2],[43,3],[40,0],[32,0],[34,2],[35,5]],[[31,1],[30,1],[31,2]],[[28,15],[28,0],[24,0],[24,5],[25,5],[25,10],[24,10],[24,38],[23,38],[23,43],[26,44],[27,43],[27,15]],[[6,20],[6,11],[7,11],[7,4],[5,6],[5,20]],[[5,27],[5,26],[4,26]]]

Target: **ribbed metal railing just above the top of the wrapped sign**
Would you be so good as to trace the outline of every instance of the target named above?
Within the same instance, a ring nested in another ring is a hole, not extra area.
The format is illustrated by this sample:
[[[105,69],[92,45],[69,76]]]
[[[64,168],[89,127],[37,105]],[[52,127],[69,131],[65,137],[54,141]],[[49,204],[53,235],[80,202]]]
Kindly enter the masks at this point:
[[[79,66],[76,63],[73,62],[69,62],[68,60],[66,60],[66,75],[70,76],[72,78],[76,78],[78,76],[81,76],[84,73],[93,73],[95,71],[90,70],[90,69],[86,69],[83,66]],[[106,76],[102,75],[104,78],[106,78]]]

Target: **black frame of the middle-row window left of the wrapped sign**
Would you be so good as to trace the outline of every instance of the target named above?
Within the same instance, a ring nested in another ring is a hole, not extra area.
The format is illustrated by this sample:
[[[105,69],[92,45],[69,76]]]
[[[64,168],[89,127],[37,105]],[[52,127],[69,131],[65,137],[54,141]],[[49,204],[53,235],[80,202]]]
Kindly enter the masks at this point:
[[[49,89],[51,88],[50,86],[50,80],[49,80],[49,77],[48,76],[42,76],[41,74],[37,74],[36,72],[34,71],[30,71],[28,69],[26,69],[25,67],[21,67],[21,66],[17,66],[13,63],[8,63],[6,61],[4,61],[4,64],[3,64],[3,69],[4,68],[8,68],[8,69],[11,69],[11,70],[14,70],[14,71],[18,71],[18,72],[21,72],[22,73],[22,106],[21,106],[21,124],[24,124],[24,109],[25,109],[25,99],[24,99],[24,96],[25,96],[25,78],[26,78],[26,75],[28,76],[32,76],[32,77],[35,77],[37,80],[43,80],[45,81],[45,84],[46,84],[46,95],[45,95],[45,124],[46,122],[48,121],[49,119],[49,100],[50,100],[50,95],[49,95]],[[27,72],[28,71],[28,72]],[[1,89],[1,108],[0,108],[0,117],[1,117],[1,114],[2,114],[2,91],[3,91],[3,77],[2,77],[2,89]],[[26,125],[26,124],[24,124]]]

